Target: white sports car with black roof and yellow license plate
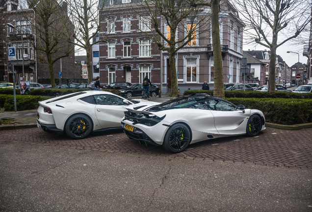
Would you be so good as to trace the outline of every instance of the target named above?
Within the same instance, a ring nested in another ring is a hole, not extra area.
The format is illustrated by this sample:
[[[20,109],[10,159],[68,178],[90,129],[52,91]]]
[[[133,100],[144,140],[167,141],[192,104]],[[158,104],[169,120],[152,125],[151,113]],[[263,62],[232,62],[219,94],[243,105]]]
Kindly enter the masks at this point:
[[[182,152],[196,142],[242,134],[256,136],[265,129],[260,110],[235,106],[207,94],[127,110],[121,124],[130,138],[162,146],[173,153]]]

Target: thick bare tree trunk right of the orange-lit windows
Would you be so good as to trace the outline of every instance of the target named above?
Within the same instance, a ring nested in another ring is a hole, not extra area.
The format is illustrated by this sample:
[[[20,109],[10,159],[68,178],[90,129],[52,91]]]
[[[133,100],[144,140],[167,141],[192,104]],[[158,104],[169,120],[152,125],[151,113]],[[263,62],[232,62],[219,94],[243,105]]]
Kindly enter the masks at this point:
[[[224,98],[223,67],[219,29],[220,0],[211,0],[211,30],[214,63],[214,88],[213,95]]]

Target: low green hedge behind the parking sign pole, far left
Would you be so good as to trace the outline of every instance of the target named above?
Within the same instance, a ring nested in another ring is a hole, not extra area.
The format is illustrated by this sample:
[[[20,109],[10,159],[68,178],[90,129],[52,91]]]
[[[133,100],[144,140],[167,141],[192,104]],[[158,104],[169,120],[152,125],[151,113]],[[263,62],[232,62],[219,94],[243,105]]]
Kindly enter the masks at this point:
[[[28,110],[28,109],[36,109],[39,104],[38,101],[43,101],[49,99],[43,96],[32,96],[28,94],[24,95],[16,95],[16,108],[18,111]],[[5,103],[3,105],[4,110],[6,111],[14,111],[14,96],[7,95],[5,97]]]

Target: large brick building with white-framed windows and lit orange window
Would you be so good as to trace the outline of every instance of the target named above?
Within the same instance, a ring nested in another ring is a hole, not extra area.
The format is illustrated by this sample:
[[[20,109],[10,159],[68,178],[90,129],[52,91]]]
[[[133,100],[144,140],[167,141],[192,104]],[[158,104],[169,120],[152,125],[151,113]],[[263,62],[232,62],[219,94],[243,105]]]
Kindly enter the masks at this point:
[[[241,82],[244,24],[231,4],[221,5],[219,22],[224,82]],[[109,15],[104,15],[99,32],[100,37],[108,34],[108,42],[99,45],[101,83],[108,84],[114,81],[142,83],[143,76],[147,74],[152,83],[162,87],[163,93],[170,92],[169,55],[165,51],[160,51],[146,32],[142,32],[150,30],[150,35],[153,36],[155,28],[147,21],[146,16],[137,15],[136,11],[141,9],[139,4],[131,0],[111,0],[106,9],[109,10]],[[205,7],[202,11],[205,15],[209,12],[209,7]],[[142,19],[145,19],[144,22]],[[187,20],[184,21],[186,26]],[[166,21],[163,19],[161,23],[159,27],[166,34]],[[210,19],[206,23],[210,23]],[[176,53],[177,80],[181,92],[187,89],[200,89],[204,81],[208,81],[213,87],[211,24],[209,26],[207,31],[198,33],[192,42]],[[177,39],[182,37],[184,32],[177,32]]]

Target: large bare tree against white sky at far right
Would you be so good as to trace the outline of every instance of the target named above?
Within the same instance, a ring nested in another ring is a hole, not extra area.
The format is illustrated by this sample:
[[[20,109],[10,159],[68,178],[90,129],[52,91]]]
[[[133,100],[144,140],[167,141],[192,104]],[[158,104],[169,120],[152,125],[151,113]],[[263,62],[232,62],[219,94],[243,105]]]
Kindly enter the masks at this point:
[[[275,92],[276,49],[298,37],[304,30],[308,30],[311,22],[311,1],[234,0],[234,2],[246,24],[247,43],[256,42],[270,49],[268,91]]]

